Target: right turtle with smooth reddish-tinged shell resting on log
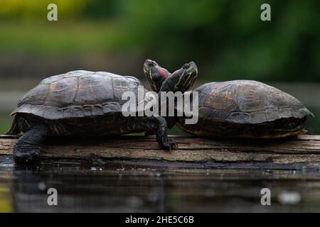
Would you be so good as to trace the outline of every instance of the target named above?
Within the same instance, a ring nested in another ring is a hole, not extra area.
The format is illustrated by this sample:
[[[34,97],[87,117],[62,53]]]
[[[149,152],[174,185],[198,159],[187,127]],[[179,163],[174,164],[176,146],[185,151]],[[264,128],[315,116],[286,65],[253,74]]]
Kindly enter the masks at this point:
[[[154,79],[153,84],[165,80],[151,74],[146,77],[151,81]],[[174,122],[178,128],[193,135],[284,138],[306,133],[306,120],[314,117],[294,96],[254,80],[208,82],[192,92],[198,92],[197,123],[186,124],[186,116],[176,116]]]

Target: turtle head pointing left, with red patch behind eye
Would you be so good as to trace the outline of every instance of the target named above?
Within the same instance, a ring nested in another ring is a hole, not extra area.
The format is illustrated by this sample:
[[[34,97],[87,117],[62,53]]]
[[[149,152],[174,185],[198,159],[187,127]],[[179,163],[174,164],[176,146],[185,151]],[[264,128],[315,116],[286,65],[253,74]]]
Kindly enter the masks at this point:
[[[154,92],[160,92],[164,80],[169,77],[170,74],[168,70],[160,67],[159,64],[153,60],[148,59],[144,62],[144,75]]]

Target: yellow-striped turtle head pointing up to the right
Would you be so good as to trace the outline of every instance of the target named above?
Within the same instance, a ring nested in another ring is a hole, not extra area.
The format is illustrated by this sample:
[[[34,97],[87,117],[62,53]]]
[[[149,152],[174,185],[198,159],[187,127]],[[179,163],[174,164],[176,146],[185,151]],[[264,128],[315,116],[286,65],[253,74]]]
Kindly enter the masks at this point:
[[[160,92],[186,92],[198,77],[198,67],[195,62],[184,64],[181,69],[170,74],[162,83]]]

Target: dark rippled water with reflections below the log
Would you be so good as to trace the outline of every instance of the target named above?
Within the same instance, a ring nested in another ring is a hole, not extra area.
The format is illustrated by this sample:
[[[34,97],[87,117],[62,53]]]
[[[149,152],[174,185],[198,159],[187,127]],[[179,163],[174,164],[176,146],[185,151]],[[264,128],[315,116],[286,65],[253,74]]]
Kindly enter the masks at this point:
[[[77,160],[45,160],[33,170],[6,166],[0,169],[1,211],[320,211],[317,170],[155,168]],[[52,187],[58,190],[58,206],[47,204]],[[260,204],[265,187],[272,192],[272,206]]]

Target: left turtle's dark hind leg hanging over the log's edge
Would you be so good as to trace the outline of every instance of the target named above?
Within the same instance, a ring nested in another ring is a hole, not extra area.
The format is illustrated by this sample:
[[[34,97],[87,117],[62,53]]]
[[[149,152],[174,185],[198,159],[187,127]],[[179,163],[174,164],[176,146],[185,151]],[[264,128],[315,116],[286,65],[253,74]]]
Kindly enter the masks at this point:
[[[40,145],[46,138],[48,126],[43,123],[30,123],[30,128],[14,145],[14,161],[28,164],[38,160]]]

